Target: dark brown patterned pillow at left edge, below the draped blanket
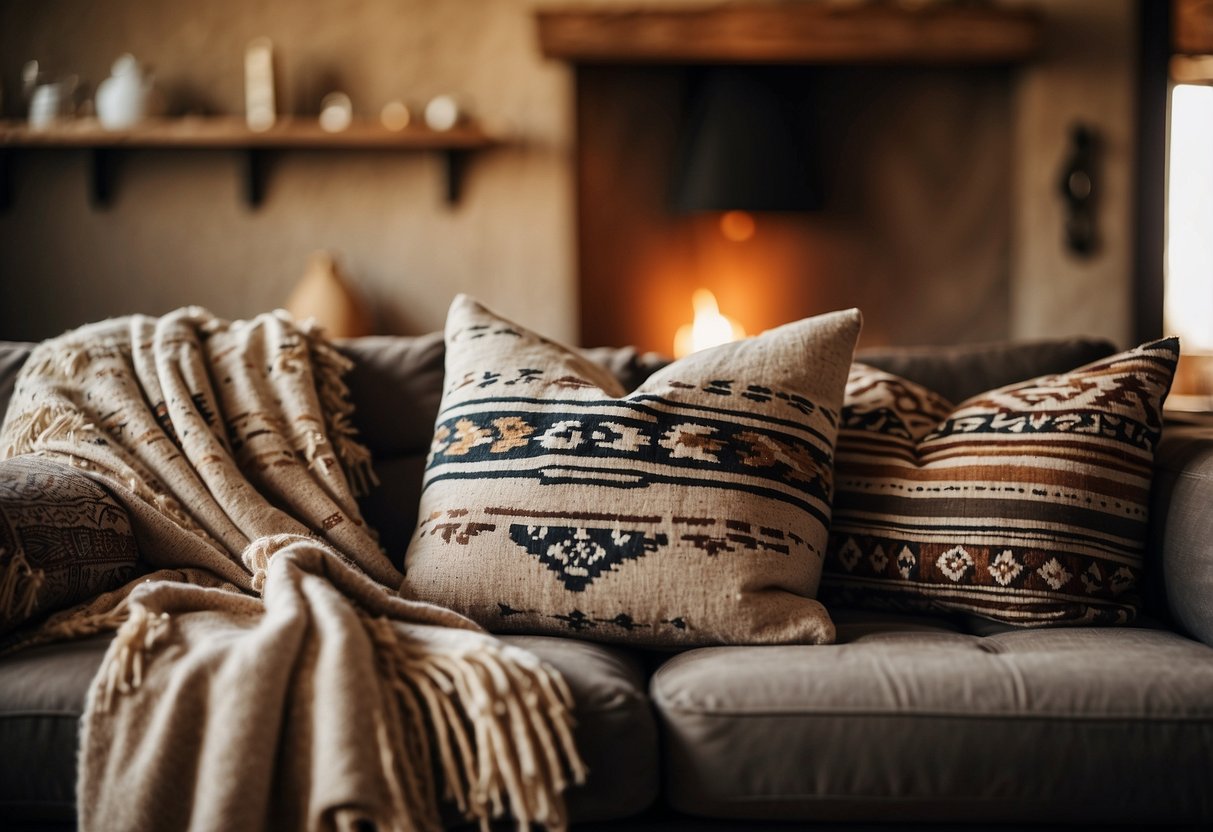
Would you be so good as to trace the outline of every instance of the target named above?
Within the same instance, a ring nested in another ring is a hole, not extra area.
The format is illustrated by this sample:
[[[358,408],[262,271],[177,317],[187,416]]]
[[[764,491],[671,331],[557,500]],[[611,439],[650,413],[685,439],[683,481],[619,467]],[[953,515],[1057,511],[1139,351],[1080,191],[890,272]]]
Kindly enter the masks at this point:
[[[0,634],[129,583],[138,551],[126,509],[36,456],[0,462]]]

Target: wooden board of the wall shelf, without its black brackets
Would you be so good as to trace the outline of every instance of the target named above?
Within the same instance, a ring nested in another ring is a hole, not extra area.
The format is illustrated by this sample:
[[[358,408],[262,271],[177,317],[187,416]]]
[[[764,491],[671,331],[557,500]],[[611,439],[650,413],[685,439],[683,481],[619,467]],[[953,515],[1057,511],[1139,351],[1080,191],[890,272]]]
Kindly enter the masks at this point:
[[[32,130],[24,122],[0,122],[0,147],[97,149],[383,149],[474,150],[500,144],[475,126],[448,131],[406,127],[392,131],[374,122],[355,122],[338,133],[325,132],[311,119],[280,120],[255,132],[240,118],[154,119],[130,130],[106,130],[95,119],[73,119]]]

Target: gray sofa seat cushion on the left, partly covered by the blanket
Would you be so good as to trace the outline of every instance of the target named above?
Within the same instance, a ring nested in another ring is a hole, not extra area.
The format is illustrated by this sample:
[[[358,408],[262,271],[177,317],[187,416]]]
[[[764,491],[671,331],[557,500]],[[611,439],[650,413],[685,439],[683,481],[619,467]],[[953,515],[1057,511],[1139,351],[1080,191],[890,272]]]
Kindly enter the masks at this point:
[[[74,821],[79,722],[109,638],[0,657],[0,828]],[[542,636],[505,640],[549,662],[573,690],[574,735],[590,777],[568,794],[571,820],[611,820],[648,808],[659,786],[657,730],[639,662],[602,644]]]

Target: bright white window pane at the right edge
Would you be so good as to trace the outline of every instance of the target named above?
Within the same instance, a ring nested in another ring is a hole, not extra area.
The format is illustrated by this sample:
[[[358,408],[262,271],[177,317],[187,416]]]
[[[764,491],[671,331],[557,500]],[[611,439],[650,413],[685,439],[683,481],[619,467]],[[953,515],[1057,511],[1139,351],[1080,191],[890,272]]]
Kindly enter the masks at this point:
[[[1213,351],[1213,87],[1171,98],[1167,183],[1167,331],[1184,352]]]

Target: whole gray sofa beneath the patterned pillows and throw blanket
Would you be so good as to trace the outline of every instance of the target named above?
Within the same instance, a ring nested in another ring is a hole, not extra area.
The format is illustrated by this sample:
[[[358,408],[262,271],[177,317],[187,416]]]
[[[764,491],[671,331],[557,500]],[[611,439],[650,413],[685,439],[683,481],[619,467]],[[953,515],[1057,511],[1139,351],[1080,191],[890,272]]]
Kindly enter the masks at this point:
[[[346,342],[355,422],[389,553],[415,523],[442,391],[437,335]],[[0,346],[0,406],[28,347]],[[869,353],[967,394],[1110,352],[1092,341]],[[655,369],[592,351],[625,384]],[[576,825],[1213,825],[1213,429],[1168,427],[1152,495],[1147,615],[1016,631],[964,617],[831,610],[827,646],[679,654],[508,637],[577,701],[590,781]],[[108,637],[0,656],[0,828],[70,826],[75,743]]]

